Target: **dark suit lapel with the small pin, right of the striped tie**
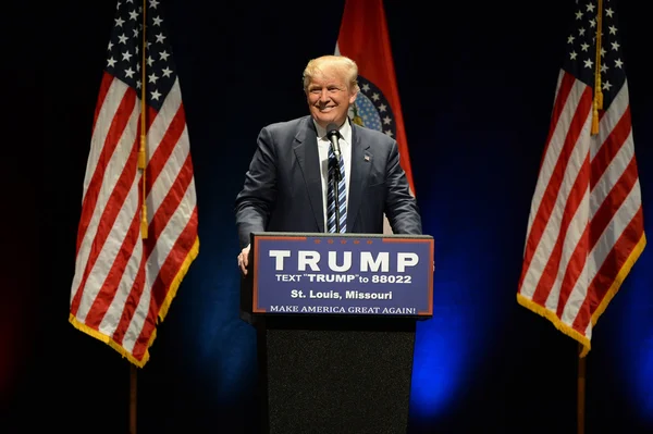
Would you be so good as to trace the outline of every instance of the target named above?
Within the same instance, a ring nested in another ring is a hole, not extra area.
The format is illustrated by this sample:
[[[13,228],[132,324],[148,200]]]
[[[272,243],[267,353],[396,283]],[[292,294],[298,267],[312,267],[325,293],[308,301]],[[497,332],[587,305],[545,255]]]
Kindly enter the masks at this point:
[[[349,179],[349,200],[347,201],[347,232],[354,228],[362,191],[367,187],[370,168],[372,166],[372,154],[369,145],[361,144],[358,127],[352,122],[352,170]]]

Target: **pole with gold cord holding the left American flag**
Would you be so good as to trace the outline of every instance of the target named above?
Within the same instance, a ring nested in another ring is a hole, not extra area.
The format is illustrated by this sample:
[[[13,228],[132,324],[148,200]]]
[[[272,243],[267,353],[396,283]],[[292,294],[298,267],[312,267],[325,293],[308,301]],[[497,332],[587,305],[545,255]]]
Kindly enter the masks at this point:
[[[143,239],[147,238],[147,203],[146,203],[146,190],[145,190],[145,169],[147,166],[146,161],[146,144],[147,144],[147,134],[146,134],[146,79],[147,75],[145,73],[147,63],[145,51],[147,49],[147,39],[146,39],[146,11],[147,11],[147,0],[143,0],[143,47],[141,47],[141,57],[140,57],[140,148],[138,149],[138,169],[143,174],[143,213],[140,218],[140,237]],[[130,363],[130,434],[136,434],[136,404],[137,404],[137,373],[138,368],[134,363]]]

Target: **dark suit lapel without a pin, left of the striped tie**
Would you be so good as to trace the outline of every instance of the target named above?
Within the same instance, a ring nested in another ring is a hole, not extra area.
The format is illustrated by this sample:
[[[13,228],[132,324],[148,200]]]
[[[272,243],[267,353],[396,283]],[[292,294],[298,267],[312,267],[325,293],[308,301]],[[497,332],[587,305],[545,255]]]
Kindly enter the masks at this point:
[[[319,232],[324,232],[324,208],[322,204],[322,178],[320,175],[318,136],[310,116],[305,119],[303,127],[295,136],[293,150],[304,175],[310,207],[320,230]]]

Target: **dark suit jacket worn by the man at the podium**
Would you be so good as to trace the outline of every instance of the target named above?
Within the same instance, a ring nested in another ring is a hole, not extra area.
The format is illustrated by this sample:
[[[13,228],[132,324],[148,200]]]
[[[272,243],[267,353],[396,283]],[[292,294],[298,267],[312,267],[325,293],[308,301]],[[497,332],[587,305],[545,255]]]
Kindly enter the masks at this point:
[[[347,233],[382,234],[383,213],[395,234],[421,234],[421,219],[399,165],[397,142],[352,123]],[[324,232],[317,133],[304,116],[261,129],[236,197],[242,247],[252,232]]]

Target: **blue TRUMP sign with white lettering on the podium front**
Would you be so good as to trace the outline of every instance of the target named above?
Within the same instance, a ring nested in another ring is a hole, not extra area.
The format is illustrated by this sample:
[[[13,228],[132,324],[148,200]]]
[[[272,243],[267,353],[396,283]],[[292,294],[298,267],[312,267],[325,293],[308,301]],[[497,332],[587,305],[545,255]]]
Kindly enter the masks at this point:
[[[432,317],[428,235],[252,234],[254,314]]]

